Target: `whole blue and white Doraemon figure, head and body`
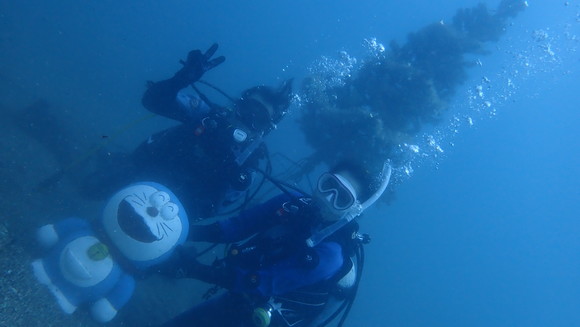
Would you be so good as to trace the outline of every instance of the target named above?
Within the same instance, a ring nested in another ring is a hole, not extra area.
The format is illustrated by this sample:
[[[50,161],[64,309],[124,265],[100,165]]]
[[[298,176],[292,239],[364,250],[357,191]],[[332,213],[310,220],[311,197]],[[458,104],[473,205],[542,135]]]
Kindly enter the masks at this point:
[[[86,220],[68,218],[41,227],[38,241],[48,253],[32,267],[64,312],[88,305],[95,320],[107,322],[133,294],[129,272],[167,260],[185,242],[189,223],[177,197],[153,182],[114,194],[101,223],[93,229]]]

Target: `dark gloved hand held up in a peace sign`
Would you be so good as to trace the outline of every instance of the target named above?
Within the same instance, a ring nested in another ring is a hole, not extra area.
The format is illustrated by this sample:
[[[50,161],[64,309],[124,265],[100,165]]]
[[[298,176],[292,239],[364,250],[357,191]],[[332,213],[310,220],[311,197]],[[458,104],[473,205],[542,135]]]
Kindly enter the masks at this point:
[[[215,68],[226,60],[224,56],[211,59],[217,51],[217,48],[217,43],[214,43],[205,53],[201,53],[200,50],[190,51],[187,55],[187,60],[180,61],[183,68],[177,72],[176,76],[182,78],[188,84],[197,82],[205,72]]]

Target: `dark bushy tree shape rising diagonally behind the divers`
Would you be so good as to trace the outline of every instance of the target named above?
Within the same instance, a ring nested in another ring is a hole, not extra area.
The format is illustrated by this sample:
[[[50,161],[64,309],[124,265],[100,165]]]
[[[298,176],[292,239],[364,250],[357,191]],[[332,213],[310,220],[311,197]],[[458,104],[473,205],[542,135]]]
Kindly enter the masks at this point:
[[[483,4],[459,9],[452,24],[427,25],[404,45],[391,42],[386,53],[369,56],[342,84],[336,85],[332,72],[307,78],[299,123],[315,152],[302,173],[343,159],[368,169],[388,159],[403,164],[399,145],[438,122],[467,80],[473,63],[465,56],[485,54],[485,43],[499,40],[507,19],[525,7],[525,1],[504,0],[495,13]]]

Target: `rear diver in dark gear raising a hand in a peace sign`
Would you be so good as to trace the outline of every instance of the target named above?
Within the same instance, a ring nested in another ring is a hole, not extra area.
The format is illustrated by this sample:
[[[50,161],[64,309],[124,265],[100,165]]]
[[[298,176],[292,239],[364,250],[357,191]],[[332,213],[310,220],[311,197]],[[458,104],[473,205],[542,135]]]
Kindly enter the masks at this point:
[[[290,105],[292,80],[279,89],[250,88],[239,99],[228,97],[231,107],[218,106],[194,85],[205,83],[200,78],[225,61],[223,56],[212,58],[217,48],[190,51],[173,77],[149,82],[145,108],[181,124],[151,135],[130,155],[107,158],[87,179],[85,193],[107,195],[131,181],[154,180],[184,199],[194,219],[223,213],[247,194],[255,169],[268,159],[263,137]],[[188,86],[197,94],[188,93]]]

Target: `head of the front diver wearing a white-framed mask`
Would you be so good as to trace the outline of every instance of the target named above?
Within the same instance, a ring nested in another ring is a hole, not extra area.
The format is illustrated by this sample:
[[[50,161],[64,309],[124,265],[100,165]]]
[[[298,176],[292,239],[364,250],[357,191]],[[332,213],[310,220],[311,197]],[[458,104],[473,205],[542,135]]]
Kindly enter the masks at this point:
[[[314,190],[314,200],[321,208],[323,219],[334,221],[349,213],[360,214],[384,192],[383,175],[384,169],[373,174],[351,162],[342,162],[322,174]]]

